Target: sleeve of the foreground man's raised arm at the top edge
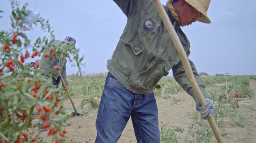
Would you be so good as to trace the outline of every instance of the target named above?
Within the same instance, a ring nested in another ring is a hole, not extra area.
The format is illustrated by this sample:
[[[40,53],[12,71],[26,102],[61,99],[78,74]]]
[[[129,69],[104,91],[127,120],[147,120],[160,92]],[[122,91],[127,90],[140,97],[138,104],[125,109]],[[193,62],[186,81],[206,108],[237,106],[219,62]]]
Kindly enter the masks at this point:
[[[151,0],[113,0],[121,8],[124,14],[129,17],[143,9]]]

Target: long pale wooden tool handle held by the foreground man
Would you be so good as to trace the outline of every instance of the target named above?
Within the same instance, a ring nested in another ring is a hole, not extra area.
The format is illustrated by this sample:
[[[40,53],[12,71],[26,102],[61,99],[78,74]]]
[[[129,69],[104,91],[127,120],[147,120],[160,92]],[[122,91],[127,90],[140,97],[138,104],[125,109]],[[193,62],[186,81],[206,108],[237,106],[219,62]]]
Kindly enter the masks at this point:
[[[189,79],[192,89],[194,90],[196,97],[198,98],[200,104],[204,105],[206,103],[204,96],[202,95],[202,92],[199,89],[198,84],[196,83],[195,77],[194,77],[192,69],[191,69],[191,65],[189,64],[188,57],[183,49],[183,46],[179,40],[179,37],[177,36],[176,31],[174,30],[173,25],[167,15],[167,13],[165,12],[165,9],[164,9],[163,5],[161,4],[161,2],[159,0],[153,0],[153,2],[155,3],[156,9],[158,10],[159,15],[161,16],[161,18],[164,22],[164,25],[165,25],[169,35],[171,36],[171,39],[174,42],[177,52],[179,53],[180,59],[182,60],[183,67],[186,72],[186,76]],[[218,130],[218,127],[217,127],[213,117],[208,118],[208,122],[210,123],[213,133],[217,139],[217,142],[223,143],[222,136],[220,135],[220,132]]]

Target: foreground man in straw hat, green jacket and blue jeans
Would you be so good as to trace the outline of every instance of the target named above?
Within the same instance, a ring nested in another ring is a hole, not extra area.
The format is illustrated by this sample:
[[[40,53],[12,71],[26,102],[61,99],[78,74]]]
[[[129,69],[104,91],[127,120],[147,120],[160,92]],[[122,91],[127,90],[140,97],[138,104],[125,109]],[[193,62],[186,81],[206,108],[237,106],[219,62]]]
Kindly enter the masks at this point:
[[[95,143],[116,143],[131,117],[138,143],[159,143],[158,109],[154,89],[170,69],[182,88],[193,97],[202,118],[213,115],[214,105],[205,84],[190,61],[195,79],[205,97],[201,106],[186,77],[179,54],[152,0],[113,0],[127,16],[127,25],[107,62],[106,78],[98,110]],[[180,26],[200,21],[210,23],[210,0],[168,0],[165,10],[189,56],[190,43]]]

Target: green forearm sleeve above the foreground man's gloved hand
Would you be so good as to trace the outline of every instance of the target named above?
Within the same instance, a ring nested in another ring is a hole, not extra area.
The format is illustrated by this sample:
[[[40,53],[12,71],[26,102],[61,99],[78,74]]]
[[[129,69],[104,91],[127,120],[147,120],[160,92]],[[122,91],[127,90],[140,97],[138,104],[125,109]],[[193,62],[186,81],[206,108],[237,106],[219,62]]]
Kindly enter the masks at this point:
[[[192,72],[195,76],[196,82],[199,86],[199,89],[202,92],[202,95],[205,97],[209,97],[209,95],[206,93],[205,91],[205,83],[204,81],[201,79],[201,77],[199,76],[195,64],[189,60],[189,63],[191,65],[192,68]],[[182,86],[182,88],[189,94],[192,96],[192,98],[196,101],[198,101],[195,92],[192,89],[191,84],[189,83],[189,80],[186,76],[185,73],[185,69],[183,67],[182,61],[180,61],[176,66],[173,67],[173,76],[175,78],[175,80],[180,84],[180,86]]]

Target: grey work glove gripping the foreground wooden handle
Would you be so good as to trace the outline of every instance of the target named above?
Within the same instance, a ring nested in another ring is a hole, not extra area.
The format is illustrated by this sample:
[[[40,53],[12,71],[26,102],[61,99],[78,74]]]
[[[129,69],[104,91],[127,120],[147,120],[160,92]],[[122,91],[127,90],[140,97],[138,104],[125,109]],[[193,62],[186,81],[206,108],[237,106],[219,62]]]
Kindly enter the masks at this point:
[[[201,117],[206,120],[214,113],[214,105],[210,98],[205,98],[206,103],[201,106],[200,102],[196,102],[196,110],[201,114]]]

